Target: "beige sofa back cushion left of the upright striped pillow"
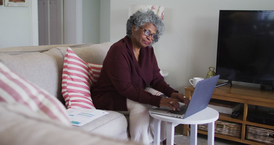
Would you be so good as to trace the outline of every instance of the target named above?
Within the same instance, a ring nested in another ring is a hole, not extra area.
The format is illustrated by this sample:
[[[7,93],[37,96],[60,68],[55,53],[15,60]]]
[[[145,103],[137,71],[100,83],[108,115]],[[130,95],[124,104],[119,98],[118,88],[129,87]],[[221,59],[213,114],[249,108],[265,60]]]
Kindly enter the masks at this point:
[[[0,61],[17,74],[64,103],[61,94],[64,58],[59,49],[22,55],[0,54]]]

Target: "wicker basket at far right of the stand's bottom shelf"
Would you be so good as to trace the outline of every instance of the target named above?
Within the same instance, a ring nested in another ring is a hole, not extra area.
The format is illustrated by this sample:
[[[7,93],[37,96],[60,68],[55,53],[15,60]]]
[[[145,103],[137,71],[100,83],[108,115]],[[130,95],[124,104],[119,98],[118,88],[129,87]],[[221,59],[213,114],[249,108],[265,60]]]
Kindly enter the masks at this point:
[[[246,126],[246,139],[274,145],[274,130],[256,126]]]

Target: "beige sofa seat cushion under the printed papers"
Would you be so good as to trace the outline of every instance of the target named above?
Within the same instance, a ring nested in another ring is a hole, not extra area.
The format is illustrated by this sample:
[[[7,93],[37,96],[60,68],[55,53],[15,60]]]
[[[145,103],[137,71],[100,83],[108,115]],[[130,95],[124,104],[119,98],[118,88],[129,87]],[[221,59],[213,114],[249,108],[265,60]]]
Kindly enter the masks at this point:
[[[109,114],[95,119],[84,126],[79,126],[79,128],[87,132],[107,135],[111,138],[117,138],[119,135],[125,134],[127,132],[127,120],[125,116],[116,111],[104,111],[109,112]]]

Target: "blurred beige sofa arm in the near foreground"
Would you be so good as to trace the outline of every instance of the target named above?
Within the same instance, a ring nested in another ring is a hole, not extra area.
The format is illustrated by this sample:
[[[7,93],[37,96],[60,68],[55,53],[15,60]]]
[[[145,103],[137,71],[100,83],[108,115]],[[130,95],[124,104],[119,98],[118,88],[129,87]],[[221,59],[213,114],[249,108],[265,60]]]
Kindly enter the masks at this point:
[[[107,138],[95,133],[84,132],[77,127],[64,126],[59,122],[47,120],[37,114],[33,114],[28,107],[22,104],[7,104],[0,102],[0,114],[1,123],[4,124],[0,126],[0,144],[137,144],[129,141]],[[112,132],[109,132],[109,134],[112,135]]]

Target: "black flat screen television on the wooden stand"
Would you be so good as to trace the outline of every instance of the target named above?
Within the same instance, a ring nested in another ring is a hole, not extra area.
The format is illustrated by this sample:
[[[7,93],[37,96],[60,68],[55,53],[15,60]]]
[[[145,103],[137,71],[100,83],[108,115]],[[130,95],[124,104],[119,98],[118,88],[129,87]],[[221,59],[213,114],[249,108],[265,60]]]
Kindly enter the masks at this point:
[[[220,10],[216,74],[273,89],[274,11]]]

